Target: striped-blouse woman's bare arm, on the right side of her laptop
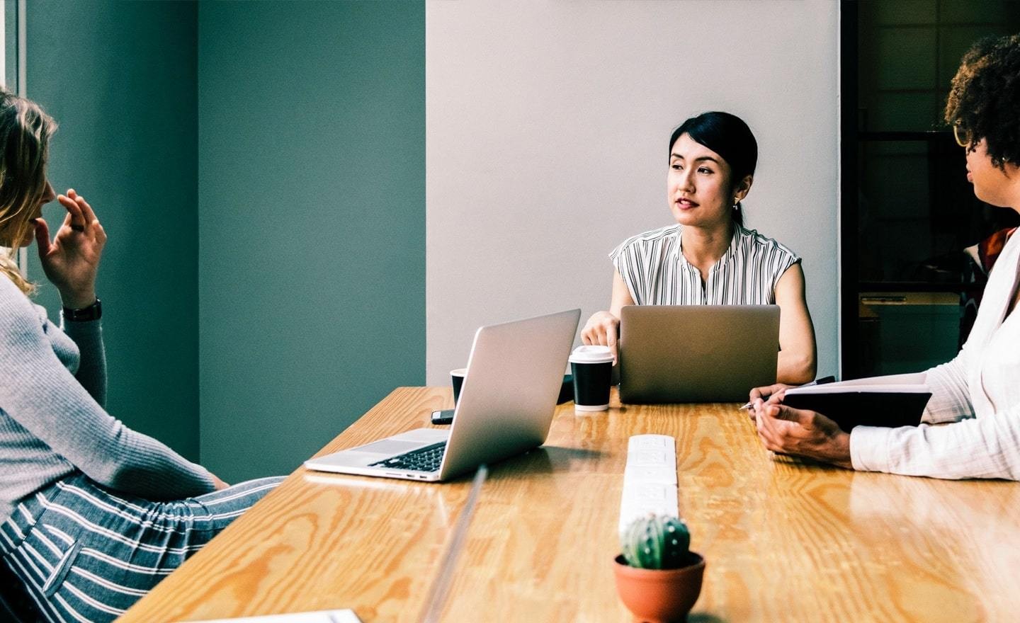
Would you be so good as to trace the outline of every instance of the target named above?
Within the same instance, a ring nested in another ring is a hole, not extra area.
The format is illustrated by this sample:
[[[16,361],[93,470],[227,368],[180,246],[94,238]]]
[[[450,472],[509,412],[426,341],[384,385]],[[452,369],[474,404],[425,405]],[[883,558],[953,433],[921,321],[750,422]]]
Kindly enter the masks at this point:
[[[776,381],[799,385],[815,377],[815,328],[804,298],[804,270],[794,264],[775,284],[779,315],[779,361]]]

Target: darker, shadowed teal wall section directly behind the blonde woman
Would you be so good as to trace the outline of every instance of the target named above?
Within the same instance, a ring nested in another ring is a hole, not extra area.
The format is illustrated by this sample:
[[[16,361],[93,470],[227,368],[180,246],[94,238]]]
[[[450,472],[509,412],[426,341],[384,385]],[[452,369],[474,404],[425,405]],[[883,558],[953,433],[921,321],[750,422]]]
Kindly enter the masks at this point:
[[[107,408],[197,460],[197,7],[34,0],[27,15],[28,95],[60,123],[50,180],[82,193],[109,236]],[[51,231],[64,213],[44,209]],[[59,297],[29,255],[55,320]]]

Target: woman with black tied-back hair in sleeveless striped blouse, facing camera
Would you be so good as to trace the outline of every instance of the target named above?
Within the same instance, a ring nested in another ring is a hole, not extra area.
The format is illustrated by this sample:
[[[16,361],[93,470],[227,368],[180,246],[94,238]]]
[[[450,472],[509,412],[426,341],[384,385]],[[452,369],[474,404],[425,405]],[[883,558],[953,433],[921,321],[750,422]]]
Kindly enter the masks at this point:
[[[815,332],[801,258],[744,227],[758,143],[740,117],[705,112],[669,138],[666,200],[676,224],[628,238],[610,254],[616,272],[608,311],[581,330],[615,357],[624,305],[771,305],[781,308],[776,380],[815,375]]]

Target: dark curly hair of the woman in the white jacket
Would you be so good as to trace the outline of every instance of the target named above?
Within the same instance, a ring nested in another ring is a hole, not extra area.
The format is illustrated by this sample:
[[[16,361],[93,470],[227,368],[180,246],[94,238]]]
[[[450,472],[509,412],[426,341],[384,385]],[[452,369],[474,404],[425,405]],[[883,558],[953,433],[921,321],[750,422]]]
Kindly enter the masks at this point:
[[[1020,35],[989,37],[971,46],[953,76],[946,121],[985,139],[991,164],[1020,165]]]

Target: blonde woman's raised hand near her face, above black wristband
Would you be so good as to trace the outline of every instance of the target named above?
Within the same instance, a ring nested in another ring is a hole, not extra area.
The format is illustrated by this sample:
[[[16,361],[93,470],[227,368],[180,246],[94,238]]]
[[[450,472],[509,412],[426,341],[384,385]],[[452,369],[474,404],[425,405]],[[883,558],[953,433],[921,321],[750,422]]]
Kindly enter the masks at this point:
[[[46,278],[60,292],[63,306],[81,309],[96,301],[96,273],[106,245],[106,231],[89,202],[73,189],[66,196],[58,195],[57,201],[67,215],[52,241],[46,221],[36,219],[39,259]]]

